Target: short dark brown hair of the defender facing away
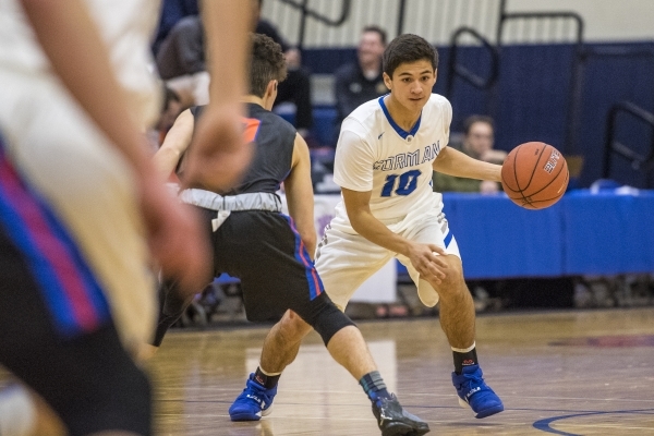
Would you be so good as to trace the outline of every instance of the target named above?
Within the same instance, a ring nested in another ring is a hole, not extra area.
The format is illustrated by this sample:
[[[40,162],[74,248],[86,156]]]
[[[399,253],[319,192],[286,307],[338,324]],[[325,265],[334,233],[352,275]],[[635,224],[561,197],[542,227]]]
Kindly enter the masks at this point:
[[[269,36],[252,34],[250,59],[250,94],[263,97],[270,81],[286,78],[287,68],[279,44]]]

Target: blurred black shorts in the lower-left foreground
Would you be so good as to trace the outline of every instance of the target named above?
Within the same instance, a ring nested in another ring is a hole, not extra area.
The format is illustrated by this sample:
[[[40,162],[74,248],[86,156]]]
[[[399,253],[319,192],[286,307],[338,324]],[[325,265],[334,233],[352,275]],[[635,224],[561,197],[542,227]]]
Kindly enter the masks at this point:
[[[44,289],[34,264],[0,219],[0,364],[46,400],[70,435],[152,434],[149,382],[111,318],[68,328],[75,323],[62,319],[73,312]]]

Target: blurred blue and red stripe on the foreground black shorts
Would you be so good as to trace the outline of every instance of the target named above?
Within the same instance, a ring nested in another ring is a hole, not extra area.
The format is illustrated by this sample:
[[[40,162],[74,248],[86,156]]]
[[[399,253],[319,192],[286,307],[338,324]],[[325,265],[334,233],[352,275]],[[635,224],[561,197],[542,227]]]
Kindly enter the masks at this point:
[[[4,157],[1,138],[0,166],[7,170],[11,168]],[[4,172],[2,177],[9,180],[15,175]],[[9,185],[0,183],[0,226],[16,249],[23,253],[24,261],[41,291],[59,332],[64,337],[73,337],[83,331],[92,331],[110,318],[109,304],[105,294],[72,238],[48,205],[36,193],[31,192],[20,179],[16,181],[22,184],[17,189],[13,182]],[[27,210],[35,210],[34,207],[40,215],[34,219],[45,221],[46,233],[31,227],[31,222],[25,221],[21,216],[21,210],[25,214],[28,213]],[[61,268],[61,265],[52,264],[48,255],[39,249],[39,243],[59,244],[63,249],[64,256],[68,257],[68,262],[63,264],[71,268],[66,267],[65,270],[58,271],[57,268]],[[71,294],[66,289],[65,280],[81,282],[83,294],[77,296]]]

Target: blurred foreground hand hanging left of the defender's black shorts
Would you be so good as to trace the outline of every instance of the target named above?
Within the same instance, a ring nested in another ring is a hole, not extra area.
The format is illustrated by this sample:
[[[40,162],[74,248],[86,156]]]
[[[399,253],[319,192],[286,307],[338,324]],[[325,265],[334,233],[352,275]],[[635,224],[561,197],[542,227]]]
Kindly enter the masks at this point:
[[[142,175],[140,187],[147,241],[161,274],[179,280],[185,294],[199,292],[211,280],[211,252],[199,217],[170,195],[158,175]]]

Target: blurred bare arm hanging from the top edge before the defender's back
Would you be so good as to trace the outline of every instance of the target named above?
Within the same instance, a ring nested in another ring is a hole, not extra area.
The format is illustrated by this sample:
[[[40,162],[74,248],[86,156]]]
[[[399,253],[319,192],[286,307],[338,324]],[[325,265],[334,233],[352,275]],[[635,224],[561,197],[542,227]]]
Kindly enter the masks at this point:
[[[233,187],[252,158],[251,144],[242,137],[245,71],[249,58],[250,1],[205,0],[202,5],[207,66],[211,75],[209,105],[187,153],[184,182],[187,187],[225,192]]]

